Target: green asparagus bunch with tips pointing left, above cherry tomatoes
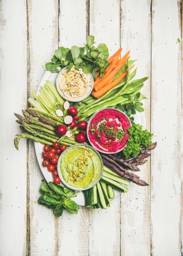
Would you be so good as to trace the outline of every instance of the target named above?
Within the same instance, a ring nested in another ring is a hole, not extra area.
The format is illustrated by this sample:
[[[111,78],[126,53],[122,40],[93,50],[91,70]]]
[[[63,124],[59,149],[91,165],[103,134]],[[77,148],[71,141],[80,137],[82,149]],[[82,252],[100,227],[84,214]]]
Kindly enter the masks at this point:
[[[21,138],[32,139],[32,141],[50,146],[59,141],[60,137],[55,133],[55,126],[61,124],[59,121],[46,117],[34,109],[22,110],[22,113],[23,116],[15,113],[16,118],[18,118],[16,122],[19,123],[20,129],[23,131],[22,134],[16,134],[14,138],[14,145],[17,150]],[[62,142],[67,146],[77,144],[73,137],[64,137]]]

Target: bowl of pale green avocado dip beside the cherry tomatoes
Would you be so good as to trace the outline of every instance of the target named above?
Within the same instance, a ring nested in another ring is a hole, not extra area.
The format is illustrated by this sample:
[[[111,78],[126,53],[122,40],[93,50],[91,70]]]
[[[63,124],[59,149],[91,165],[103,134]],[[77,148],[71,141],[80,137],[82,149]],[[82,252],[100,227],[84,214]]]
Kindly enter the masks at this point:
[[[61,176],[66,184],[72,187],[90,187],[98,180],[101,171],[101,159],[97,152],[89,146],[72,146],[61,155]]]

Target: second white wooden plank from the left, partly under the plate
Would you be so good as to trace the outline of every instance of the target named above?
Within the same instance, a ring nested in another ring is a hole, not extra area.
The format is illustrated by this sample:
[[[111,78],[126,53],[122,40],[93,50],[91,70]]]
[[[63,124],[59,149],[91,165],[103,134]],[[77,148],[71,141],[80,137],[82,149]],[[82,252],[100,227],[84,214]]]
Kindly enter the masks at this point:
[[[28,20],[28,94],[36,90],[44,64],[51,59],[58,44],[57,1],[27,1]],[[40,152],[41,153],[41,152]],[[30,208],[28,211],[29,255],[57,255],[57,220],[51,210],[38,204],[39,187],[43,176],[36,161],[34,144],[28,146],[28,183]]]

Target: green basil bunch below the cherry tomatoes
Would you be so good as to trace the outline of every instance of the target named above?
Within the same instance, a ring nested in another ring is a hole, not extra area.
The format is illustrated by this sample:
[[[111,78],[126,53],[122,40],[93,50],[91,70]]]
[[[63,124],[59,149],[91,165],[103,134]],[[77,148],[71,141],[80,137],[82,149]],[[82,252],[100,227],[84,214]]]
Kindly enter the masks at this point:
[[[40,193],[42,194],[38,203],[45,207],[52,209],[56,217],[63,214],[64,209],[71,213],[77,213],[80,207],[71,200],[76,196],[76,191],[66,188],[63,184],[55,184],[53,182],[46,182],[45,180],[40,186]]]

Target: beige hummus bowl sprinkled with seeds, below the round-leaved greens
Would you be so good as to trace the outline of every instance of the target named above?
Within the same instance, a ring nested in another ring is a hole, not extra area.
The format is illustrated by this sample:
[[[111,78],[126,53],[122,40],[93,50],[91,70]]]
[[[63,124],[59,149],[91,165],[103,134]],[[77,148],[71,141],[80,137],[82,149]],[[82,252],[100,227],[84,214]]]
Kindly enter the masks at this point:
[[[91,73],[84,73],[83,69],[72,67],[60,71],[56,79],[57,90],[61,97],[68,101],[81,101],[88,97],[93,89],[93,77]]]

